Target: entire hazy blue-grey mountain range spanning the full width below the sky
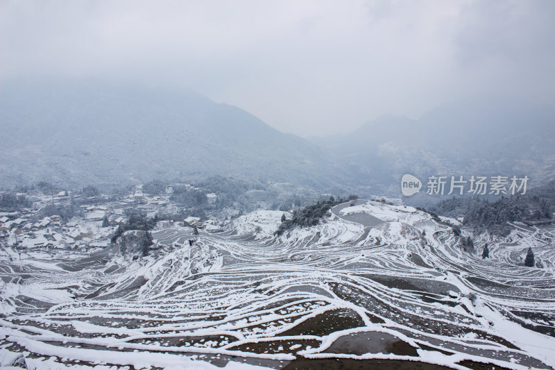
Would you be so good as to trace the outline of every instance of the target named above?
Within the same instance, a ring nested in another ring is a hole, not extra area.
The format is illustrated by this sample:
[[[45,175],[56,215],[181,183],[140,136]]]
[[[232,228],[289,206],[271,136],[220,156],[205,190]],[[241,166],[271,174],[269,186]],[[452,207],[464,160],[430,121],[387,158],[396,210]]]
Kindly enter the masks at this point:
[[[1,83],[0,120],[0,186],[222,175],[400,196],[407,173],[526,174],[531,185],[555,178],[555,108],[517,100],[445,103],[419,119],[384,116],[313,143],[195,92]]]

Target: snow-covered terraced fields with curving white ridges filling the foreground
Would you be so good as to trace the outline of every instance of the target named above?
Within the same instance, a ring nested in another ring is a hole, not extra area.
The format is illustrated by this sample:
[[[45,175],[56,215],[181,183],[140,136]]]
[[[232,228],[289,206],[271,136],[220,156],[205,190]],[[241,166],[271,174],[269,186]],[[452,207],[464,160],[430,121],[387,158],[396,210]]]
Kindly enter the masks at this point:
[[[189,230],[158,230],[157,258],[3,257],[0,366],[555,366],[553,228],[479,235],[471,255],[411,207],[345,204],[274,237],[281,216],[241,216],[192,247]],[[529,246],[544,268],[522,265]]]

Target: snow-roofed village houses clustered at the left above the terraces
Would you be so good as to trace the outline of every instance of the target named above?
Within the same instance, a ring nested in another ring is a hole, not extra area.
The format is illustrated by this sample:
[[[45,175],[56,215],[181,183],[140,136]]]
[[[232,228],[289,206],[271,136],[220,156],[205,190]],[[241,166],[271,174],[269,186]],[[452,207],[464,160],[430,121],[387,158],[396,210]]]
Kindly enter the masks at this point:
[[[191,185],[187,185],[191,187]],[[192,187],[191,187],[192,188]],[[110,245],[119,226],[127,221],[126,210],[139,209],[156,219],[153,230],[167,228],[198,228],[210,233],[223,231],[224,222],[210,217],[187,215],[170,200],[172,187],[164,194],[153,196],[136,186],[126,196],[98,194],[85,197],[80,192],[60,191],[57,194],[33,194],[30,208],[0,212],[0,245],[4,251],[17,252],[25,258],[31,249],[67,249],[89,252]],[[23,194],[18,194],[22,196]],[[216,194],[205,194],[207,203],[214,204]],[[78,203],[78,205],[76,205]],[[52,211],[74,209],[74,215],[45,215]],[[9,255],[10,253],[8,253]]]

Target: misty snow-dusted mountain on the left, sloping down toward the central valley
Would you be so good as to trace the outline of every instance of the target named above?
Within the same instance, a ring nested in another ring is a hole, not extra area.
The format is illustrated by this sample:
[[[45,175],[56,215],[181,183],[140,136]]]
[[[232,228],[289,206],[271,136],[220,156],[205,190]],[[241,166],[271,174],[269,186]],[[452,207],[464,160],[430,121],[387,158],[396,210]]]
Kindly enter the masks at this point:
[[[105,83],[3,84],[1,185],[223,175],[323,187],[343,169],[315,144],[194,92]]]

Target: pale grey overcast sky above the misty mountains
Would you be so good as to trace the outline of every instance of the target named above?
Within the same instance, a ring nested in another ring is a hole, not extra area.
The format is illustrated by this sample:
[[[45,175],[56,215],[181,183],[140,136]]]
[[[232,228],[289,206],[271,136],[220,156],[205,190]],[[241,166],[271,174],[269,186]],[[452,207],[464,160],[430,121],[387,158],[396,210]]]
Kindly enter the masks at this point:
[[[185,85],[320,136],[477,94],[555,104],[555,1],[7,1],[0,78]]]

